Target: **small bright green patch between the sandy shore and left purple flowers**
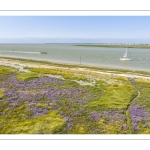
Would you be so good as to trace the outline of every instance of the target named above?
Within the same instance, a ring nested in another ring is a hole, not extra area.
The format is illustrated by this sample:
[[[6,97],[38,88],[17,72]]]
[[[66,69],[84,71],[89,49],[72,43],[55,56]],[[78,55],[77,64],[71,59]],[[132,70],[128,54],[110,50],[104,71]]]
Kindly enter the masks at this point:
[[[32,80],[35,78],[41,77],[43,74],[35,73],[35,72],[19,72],[17,76],[17,80],[24,81],[24,80]]]

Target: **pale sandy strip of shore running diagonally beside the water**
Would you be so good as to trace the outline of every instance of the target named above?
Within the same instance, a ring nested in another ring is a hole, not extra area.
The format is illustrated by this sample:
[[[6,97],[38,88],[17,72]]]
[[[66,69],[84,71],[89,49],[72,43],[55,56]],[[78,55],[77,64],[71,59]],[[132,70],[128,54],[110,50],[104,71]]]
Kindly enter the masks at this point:
[[[28,72],[27,69],[24,69],[24,67],[33,67],[33,68],[50,68],[50,69],[63,69],[66,71],[71,71],[71,72],[78,72],[81,74],[97,74],[97,75],[107,75],[107,76],[114,76],[114,77],[126,77],[126,78],[134,78],[134,79],[141,79],[141,80],[146,80],[150,81],[150,76],[144,76],[144,75],[135,75],[135,74],[126,74],[126,73],[115,73],[115,71],[95,71],[90,68],[82,68],[78,66],[78,68],[73,68],[73,67],[66,67],[66,66],[55,66],[51,64],[39,64],[38,62],[28,62],[28,61],[20,61],[20,60],[15,60],[15,59],[9,59],[9,58],[1,58],[0,59],[0,65],[5,65],[5,66],[11,66],[14,68],[18,68],[19,71],[24,71]],[[63,64],[62,64],[63,65]]]

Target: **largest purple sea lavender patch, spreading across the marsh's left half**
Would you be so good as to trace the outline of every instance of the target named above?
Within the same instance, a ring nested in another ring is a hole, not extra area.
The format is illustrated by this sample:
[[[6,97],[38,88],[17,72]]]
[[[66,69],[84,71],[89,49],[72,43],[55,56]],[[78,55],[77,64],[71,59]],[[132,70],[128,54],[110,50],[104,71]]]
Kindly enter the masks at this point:
[[[69,87],[64,86],[60,88],[66,81],[58,78],[40,77],[33,80],[18,81],[16,77],[17,75],[13,74],[0,84],[0,87],[5,89],[5,97],[3,97],[1,101],[6,101],[12,106],[24,103],[28,106],[33,103],[31,108],[34,114],[33,116],[40,116],[47,113],[48,110],[44,108],[42,108],[42,110],[36,108],[36,104],[41,103],[42,100],[45,100],[46,103],[51,103],[52,106],[57,102],[66,100],[69,102],[69,107],[71,105],[82,107],[92,98],[92,94],[88,92],[88,88],[79,89],[71,85]],[[48,86],[49,84],[54,85]],[[61,106],[56,107],[55,105],[54,107],[60,109]],[[75,116],[82,115],[79,111],[72,112],[71,115],[73,114]]]

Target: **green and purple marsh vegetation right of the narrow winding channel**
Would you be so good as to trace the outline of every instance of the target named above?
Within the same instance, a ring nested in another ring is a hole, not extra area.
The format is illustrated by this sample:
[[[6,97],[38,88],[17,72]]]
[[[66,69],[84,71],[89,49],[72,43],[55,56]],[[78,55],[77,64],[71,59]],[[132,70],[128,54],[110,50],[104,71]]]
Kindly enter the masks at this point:
[[[138,91],[138,96],[130,104],[132,133],[150,133],[150,82],[135,80],[132,82]]]

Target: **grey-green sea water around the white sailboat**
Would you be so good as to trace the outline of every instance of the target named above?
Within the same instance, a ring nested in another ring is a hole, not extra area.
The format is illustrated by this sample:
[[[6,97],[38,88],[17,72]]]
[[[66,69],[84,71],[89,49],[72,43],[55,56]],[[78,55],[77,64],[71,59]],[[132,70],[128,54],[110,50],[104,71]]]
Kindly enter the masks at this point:
[[[13,51],[12,51],[13,50]],[[40,54],[47,52],[47,54]],[[100,48],[73,44],[0,44],[0,56],[52,62],[150,71],[150,49],[129,49],[131,61],[120,61],[125,48]]]

